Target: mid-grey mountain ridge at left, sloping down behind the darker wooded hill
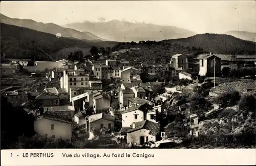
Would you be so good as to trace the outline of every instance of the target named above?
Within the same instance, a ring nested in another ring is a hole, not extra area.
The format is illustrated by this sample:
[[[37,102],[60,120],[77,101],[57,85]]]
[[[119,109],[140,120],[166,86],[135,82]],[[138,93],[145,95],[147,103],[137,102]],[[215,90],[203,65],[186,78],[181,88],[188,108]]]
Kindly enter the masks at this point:
[[[63,37],[73,37],[77,39],[85,39],[85,40],[102,40],[102,39],[90,32],[80,32],[76,31],[70,28],[63,28],[61,26],[58,26],[54,23],[42,23],[42,22],[36,22],[31,19],[17,19],[17,18],[10,18],[3,14],[1,16],[1,23],[6,23],[13,26],[18,27],[24,27],[29,28],[32,30],[50,33],[53,35],[56,35],[57,33],[60,33]]]

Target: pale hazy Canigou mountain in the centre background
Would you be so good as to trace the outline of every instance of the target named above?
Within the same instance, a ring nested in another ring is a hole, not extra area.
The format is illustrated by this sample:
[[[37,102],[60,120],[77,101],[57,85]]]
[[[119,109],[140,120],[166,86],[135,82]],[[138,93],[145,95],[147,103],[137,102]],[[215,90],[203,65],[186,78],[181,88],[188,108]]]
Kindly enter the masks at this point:
[[[151,23],[133,23],[119,20],[107,22],[75,22],[64,25],[63,27],[91,32],[104,39],[120,42],[141,40],[160,41],[195,35],[194,32],[175,26],[159,26]]]

